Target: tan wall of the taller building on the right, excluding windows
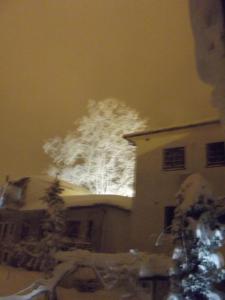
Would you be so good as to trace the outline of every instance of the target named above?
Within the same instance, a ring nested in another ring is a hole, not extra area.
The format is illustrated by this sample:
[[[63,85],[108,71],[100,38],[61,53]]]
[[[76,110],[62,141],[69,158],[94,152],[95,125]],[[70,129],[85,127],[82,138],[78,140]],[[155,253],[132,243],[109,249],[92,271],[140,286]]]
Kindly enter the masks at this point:
[[[225,167],[206,166],[206,144],[225,141],[219,124],[186,128],[140,136],[138,148],[136,197],[131,218],[131,245],[158,252],[155,241],[164,228],[165,206],[173,206],[175,194],[184,179],[200,172],[211,184],[216,196],[225,195]],[[184,146],[186,169],[164,171],[163,149]]]

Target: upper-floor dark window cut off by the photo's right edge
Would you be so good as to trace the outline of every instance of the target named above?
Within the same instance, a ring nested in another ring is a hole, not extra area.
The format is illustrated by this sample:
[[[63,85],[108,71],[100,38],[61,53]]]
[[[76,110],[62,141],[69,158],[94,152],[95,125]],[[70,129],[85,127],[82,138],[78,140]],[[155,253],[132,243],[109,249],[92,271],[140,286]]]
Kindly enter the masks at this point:
[[[207,166],[225,165],[225,145],[224,142],[209,143],[206,145]]]

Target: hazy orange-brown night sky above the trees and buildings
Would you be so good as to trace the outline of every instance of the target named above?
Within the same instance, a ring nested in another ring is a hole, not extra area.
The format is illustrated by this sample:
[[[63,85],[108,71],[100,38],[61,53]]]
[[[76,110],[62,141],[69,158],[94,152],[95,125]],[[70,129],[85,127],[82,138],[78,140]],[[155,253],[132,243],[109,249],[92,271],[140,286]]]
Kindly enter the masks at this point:
[[[2,0],[0,176],[39,174],[44,140],[87,100],[115,97],[164,127],[216,118],[187,0]]]

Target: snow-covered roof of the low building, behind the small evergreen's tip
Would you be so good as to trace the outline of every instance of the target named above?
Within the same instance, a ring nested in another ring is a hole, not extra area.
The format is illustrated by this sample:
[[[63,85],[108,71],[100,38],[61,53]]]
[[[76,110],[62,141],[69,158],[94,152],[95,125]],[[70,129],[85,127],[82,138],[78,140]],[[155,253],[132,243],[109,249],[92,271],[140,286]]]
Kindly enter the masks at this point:
[[[40,199],[46,189],[53,182],[50,176],[31,176],[25,192],[25,204],[21,210],[46,209],[46,204]],[[96,205],[116,206],[121,209],[131,210],[132,198],[118,195],[93,195],[87,189],[65,181],[60,181],[64,189],[61,196],[66,207],[87,207]]]

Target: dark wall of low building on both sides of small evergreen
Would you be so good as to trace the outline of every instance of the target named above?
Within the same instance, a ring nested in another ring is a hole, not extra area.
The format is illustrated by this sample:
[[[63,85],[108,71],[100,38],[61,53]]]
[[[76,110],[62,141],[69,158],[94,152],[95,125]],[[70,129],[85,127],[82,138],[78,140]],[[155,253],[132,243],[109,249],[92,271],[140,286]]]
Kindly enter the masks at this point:
[[[98,252],[128,248],[129,211],[110,205],[72,207],[66,210],[66,235],[76,247]],[[8,210],[0,213],[0,242],[19,242],[42,236],[44,210]]]

